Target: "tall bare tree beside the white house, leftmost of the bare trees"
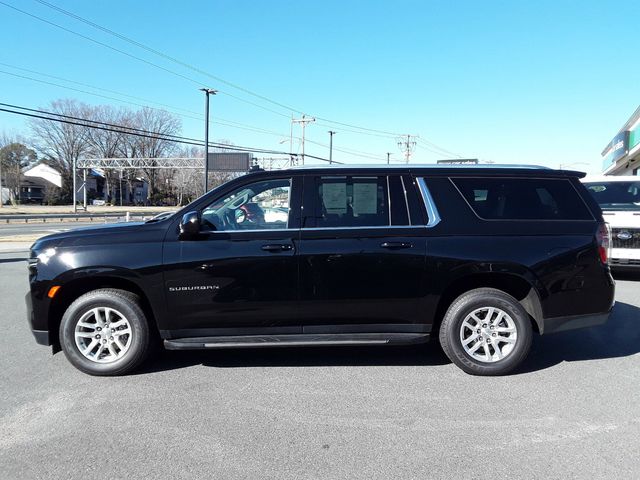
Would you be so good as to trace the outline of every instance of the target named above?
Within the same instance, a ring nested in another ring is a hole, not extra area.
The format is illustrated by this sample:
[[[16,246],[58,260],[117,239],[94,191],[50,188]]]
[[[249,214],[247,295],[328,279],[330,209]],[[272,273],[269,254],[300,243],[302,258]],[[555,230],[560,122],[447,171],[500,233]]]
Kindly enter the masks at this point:
[[[86,118],[89,107],[76,100],[56,100],[47,110],[63,115]],[[52,120],[32,119],[29,126],[36,147],[46,163],[62,175],[61,196],[64,201],[73,198],[73,165],[88,150],[88,131],[84,125],[72,125]]]

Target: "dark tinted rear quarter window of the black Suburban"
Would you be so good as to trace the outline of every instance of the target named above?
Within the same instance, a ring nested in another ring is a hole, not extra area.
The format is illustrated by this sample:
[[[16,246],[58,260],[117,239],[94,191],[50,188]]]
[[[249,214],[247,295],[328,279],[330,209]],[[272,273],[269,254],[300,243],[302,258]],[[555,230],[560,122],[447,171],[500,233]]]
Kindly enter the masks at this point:
[[[451,178],[480,218],[487,220],[593,220],[568,179]]]

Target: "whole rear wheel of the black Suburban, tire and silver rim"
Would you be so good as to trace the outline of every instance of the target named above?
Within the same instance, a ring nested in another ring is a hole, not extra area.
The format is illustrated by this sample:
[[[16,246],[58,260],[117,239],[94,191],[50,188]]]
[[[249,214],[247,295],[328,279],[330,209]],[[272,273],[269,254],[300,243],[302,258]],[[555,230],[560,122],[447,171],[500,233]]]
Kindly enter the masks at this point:
[[[460,295],[440,326],[442,349],[472,375],[504,375],[527,357],[532,329],[529,315],[511,295],[479,288]]]

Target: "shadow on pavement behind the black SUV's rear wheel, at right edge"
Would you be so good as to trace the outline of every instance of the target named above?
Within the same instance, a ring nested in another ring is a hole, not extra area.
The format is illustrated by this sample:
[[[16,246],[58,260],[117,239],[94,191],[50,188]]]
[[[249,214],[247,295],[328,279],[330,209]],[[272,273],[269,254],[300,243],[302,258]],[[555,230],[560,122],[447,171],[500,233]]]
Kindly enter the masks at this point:
[[[617,302],[609,321],[598,327],[534,335],[531,352],[514,373],[528,373],[561,362],[627,357],[640,352],[640,308]]]

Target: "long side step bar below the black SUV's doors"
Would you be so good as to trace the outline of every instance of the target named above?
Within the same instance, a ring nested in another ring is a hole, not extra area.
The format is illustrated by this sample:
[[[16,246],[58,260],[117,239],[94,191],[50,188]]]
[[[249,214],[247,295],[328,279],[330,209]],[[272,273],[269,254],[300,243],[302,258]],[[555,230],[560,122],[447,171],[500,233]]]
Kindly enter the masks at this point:
[[[165,340],[167,350],[260,347],[326,347],[337,345],[408,345],[429,341],[428,333],[326,333],[238,335]]]

